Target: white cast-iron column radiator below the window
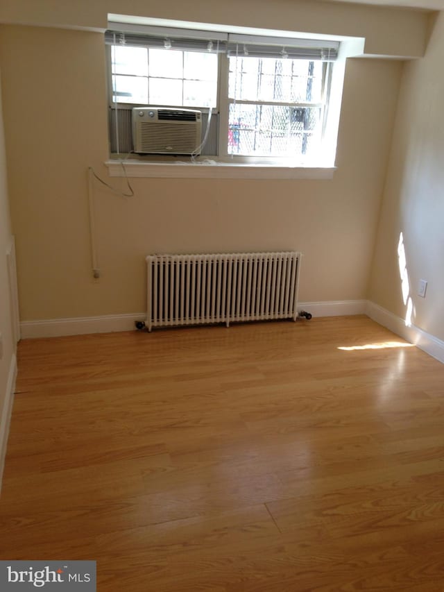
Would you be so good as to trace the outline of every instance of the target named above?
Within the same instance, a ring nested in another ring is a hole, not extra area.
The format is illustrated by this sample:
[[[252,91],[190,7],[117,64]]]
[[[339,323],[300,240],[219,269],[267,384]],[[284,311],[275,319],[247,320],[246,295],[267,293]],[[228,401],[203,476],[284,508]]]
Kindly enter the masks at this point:
[[[149,255],[146,327],[298,317],[301,254]]]

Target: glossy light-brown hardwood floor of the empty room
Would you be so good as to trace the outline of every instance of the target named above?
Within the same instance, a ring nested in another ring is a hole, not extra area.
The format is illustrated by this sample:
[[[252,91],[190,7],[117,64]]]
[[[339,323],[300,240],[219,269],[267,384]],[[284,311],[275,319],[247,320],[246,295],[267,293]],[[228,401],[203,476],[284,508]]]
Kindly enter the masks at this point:
[[[0,559],[95,559],[100,592],[443,591],[444,365],[407,345],[365,316],[22,341]]]

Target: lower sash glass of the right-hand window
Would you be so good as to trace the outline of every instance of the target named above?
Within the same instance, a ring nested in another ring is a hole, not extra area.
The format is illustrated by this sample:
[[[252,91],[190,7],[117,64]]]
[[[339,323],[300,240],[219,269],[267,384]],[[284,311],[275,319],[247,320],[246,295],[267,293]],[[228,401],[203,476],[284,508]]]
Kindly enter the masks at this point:
[[[319,108],[230,105],[229,154],[308,155],[320,137]]]

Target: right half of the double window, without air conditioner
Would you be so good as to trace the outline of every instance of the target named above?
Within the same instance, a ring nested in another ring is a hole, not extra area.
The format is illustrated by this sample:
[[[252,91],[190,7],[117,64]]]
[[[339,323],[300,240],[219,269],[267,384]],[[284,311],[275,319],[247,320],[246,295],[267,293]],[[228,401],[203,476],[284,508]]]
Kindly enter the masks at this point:
[[[326,66],[230,57],[228,153],[308,156],[322,139]]]

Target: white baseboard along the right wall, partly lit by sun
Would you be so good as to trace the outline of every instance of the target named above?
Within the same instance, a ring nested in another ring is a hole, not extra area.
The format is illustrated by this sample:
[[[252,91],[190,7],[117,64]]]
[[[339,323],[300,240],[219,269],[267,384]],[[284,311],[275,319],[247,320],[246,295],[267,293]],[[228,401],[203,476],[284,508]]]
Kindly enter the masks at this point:
[[[438,337],[430,335],[430,333],[423,331],[415,325],[407,327],[400,316],[370,301],[367,303],[366,314],[370,316],[370,319],[379,323],[379,325],[390,329],[396,335],[400,335],[406,341],[415,344],[418,348],[425,351],[425,353],[444,363],[444,341],[441,341]]]

